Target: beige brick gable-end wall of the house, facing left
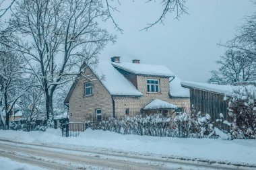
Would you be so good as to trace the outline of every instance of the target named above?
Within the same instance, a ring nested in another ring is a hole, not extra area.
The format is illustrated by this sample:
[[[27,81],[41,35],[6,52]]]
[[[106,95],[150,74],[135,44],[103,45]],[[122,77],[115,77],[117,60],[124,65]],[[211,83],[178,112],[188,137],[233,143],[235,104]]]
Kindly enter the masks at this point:
[[[102,110],[102,117],[113,116],[113,102],[110,93],[90,69],[86,69],[84,74],[92,75],[89,77],[91,80],[96,79],[92,81],[92,95],[84,96],[84,83],[90,82],[90,80],[80,77],[69,99],[69,121],[96,121],[96,109]]]

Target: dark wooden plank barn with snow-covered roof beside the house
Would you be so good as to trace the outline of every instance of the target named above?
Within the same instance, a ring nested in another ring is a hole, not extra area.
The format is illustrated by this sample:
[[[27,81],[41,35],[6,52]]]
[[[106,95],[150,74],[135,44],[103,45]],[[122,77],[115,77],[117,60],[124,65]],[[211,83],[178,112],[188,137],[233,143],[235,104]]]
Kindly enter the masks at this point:
[[[181,85],[190,89],[191,108],[193,106],[196,112],[210,114],[212,121],[217,126],[220,125],[216,122],[220,118],[220,113],[223,114],[224,120],[230,120],[228,118],[228,101],[224,100],[224,96],[231,92],[234,86],[190,81],[182,81]]]

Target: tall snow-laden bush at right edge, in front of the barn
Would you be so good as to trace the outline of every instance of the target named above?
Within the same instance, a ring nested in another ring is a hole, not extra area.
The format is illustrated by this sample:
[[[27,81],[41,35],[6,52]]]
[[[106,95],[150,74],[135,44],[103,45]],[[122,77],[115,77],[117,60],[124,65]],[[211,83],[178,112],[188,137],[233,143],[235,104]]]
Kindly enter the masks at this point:
[[[228,115],[223,123],[230,127],[232,138],[256,138],[256,87],[247,85],[228,94]]]

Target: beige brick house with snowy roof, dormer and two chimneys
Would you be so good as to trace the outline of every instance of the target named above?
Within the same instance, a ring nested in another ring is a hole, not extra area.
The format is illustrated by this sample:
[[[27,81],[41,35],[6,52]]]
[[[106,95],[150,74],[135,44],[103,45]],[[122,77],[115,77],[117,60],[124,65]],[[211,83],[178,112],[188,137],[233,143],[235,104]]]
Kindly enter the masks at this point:
[[[67,97],[69,122],[190,110],[189,90],[167,67],[121,62],[119,56],[86,67]]]

